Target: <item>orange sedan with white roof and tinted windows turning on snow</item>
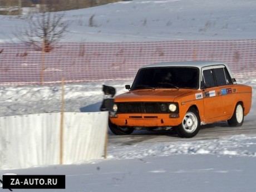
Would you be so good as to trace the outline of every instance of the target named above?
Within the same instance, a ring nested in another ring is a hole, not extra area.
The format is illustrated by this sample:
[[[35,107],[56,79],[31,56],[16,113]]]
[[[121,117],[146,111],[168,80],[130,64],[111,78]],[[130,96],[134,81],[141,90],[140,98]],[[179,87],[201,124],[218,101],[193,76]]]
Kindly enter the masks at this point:
[[[242,126],[252,104],[252,87],[238,85],[222,62],[147,65],[125,87],[129,92],[107,99],[114,101],[109,127],[116,135],[173,128],[181,137],[193,137],[202,124],[228,121]]]

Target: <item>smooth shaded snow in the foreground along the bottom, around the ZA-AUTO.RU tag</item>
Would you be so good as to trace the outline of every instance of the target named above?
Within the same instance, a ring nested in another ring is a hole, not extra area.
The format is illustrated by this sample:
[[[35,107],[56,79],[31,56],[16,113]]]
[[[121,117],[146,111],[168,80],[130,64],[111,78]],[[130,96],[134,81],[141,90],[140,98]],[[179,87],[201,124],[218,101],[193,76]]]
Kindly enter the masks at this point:
[[[8,173],[13,172],[66,175],[65,190],[13,191],[255,191],[255,158],[243,156],[171,155],[9,170]]]

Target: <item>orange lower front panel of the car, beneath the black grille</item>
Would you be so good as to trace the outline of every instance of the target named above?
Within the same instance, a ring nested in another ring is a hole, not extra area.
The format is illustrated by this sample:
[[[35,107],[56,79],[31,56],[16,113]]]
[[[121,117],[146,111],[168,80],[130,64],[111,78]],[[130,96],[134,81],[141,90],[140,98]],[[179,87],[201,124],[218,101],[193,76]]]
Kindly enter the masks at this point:
[[[181,123],[179,114],[117,114],[110,116],[112,124],[118,126],[177,126]]]

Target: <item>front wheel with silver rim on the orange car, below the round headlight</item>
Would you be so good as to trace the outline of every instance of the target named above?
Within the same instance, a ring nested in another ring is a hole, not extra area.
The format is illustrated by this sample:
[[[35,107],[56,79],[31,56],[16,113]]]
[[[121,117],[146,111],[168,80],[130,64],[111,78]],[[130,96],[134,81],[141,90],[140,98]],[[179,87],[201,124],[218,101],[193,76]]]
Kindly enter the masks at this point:
[[[183,121],[176,127],[176,132],[180,137],[190,138],[198,134],[200,130],[200,117],[198,111],[190,109],[186,112]]]

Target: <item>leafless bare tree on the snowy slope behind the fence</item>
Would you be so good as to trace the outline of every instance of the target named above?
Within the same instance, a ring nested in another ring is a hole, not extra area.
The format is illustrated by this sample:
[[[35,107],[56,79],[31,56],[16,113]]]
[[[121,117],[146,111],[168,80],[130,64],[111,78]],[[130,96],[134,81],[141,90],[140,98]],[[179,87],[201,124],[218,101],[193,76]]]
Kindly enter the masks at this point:
[[[68,23],[63,22],[64,12],[46,12],[27,17],[26,26],[18,29],[16,37],[37,50],[50,52],[64,37]]]

